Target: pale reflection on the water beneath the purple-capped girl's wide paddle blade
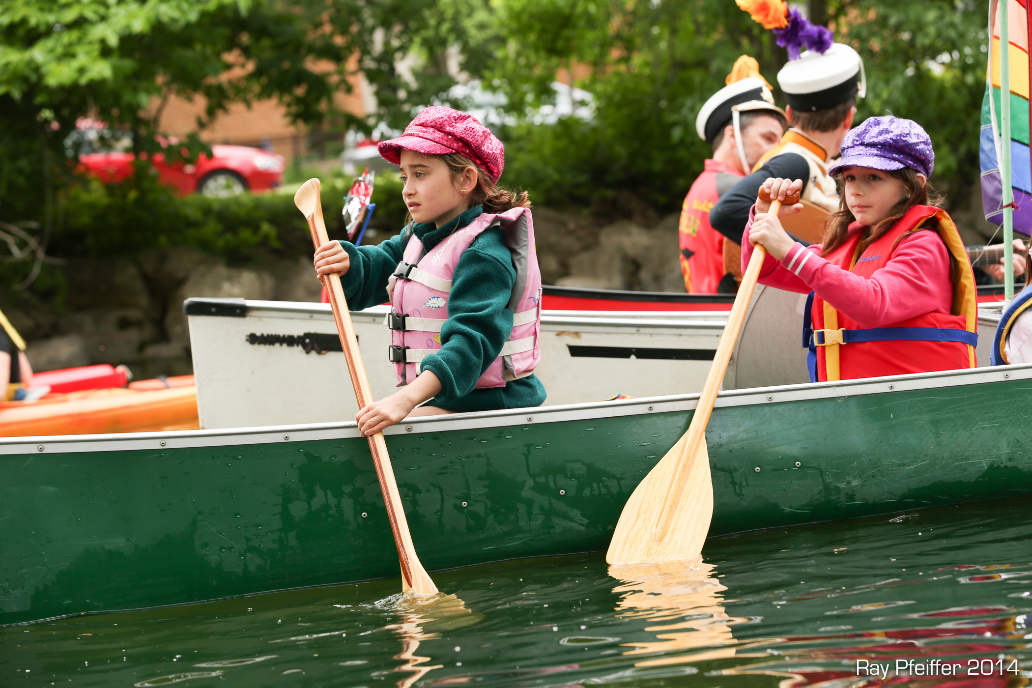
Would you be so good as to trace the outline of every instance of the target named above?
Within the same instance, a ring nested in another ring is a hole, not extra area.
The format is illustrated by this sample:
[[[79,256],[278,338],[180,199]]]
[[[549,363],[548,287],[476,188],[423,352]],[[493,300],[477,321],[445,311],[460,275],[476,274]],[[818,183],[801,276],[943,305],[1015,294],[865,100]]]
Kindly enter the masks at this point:
[[[701,558],[609,567],[609,575],[621,581],[613,588],[613,593],[620,596],[617,617],[675,622],[645,626],[646,631],[658,631],[657,642],[622,644],[636,648],[624,655],[665,655],[637,661],[635,666],[680,664],[735,655],[731,626],[746,619],[728,616],[720,595],[727,588],[713,577],[713,564]],[[696,651],[681,654],[682,650]]]

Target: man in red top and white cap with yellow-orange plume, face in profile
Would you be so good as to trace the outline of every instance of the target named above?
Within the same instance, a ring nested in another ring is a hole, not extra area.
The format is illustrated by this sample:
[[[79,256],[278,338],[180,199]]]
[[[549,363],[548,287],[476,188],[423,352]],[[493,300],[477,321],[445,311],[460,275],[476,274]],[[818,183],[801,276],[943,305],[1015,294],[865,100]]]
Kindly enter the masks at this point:
[[[728,86],[699,110],[696,132],[713,146],[713,157],[706,160],[681,207],[681,271],[689,293],[733,294],[737,290],[734,275],[723,266],[723,235],[710,227],[710,208],[777,145],[786,125],[785,113],[774,105],[756,61],[745,55],[735,63]]]

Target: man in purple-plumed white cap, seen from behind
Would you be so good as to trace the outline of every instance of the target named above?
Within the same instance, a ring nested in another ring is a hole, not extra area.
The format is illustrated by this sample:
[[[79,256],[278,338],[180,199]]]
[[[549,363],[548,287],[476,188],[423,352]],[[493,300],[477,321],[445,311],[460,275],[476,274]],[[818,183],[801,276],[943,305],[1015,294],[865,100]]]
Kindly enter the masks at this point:
[[[769,177],[803,179],[806,210],[782,225],[801,239],[820,240],[824,219],[839,206],[835,181],[828,176],[830,162],[852,127],[857,98],[867,91],[864,63],[843,43],[832,43],[823,54],[806,51],[781,68],[777,80],[788,103],[792,129],[710,210],[713,228],[737,244],[760,186]]]

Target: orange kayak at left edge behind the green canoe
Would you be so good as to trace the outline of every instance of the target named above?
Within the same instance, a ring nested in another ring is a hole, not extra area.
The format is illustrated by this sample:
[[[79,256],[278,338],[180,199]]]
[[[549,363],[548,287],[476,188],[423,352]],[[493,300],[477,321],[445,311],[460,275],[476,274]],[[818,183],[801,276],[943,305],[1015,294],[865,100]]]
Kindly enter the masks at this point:
[[[0,437],[196,430],[193,375],[0,402]]]

